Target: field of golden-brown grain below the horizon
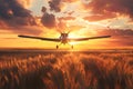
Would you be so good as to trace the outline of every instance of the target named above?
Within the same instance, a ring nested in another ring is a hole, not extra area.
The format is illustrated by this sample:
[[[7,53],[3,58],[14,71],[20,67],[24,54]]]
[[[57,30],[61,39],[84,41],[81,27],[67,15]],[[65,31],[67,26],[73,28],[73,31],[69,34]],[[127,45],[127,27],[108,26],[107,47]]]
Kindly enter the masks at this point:
[[[133,50],[0,51],[0,89],[133,89]]]

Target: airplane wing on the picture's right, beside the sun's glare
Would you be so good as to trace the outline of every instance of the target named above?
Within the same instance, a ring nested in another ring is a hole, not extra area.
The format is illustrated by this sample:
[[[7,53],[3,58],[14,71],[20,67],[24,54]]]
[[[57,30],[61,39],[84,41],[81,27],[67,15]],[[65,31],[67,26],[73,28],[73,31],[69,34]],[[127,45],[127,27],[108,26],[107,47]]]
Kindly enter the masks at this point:
[[[111,36],[90,37],[90,38],[70,38],[69,41],[85,41],[91,39],[110,38]]]

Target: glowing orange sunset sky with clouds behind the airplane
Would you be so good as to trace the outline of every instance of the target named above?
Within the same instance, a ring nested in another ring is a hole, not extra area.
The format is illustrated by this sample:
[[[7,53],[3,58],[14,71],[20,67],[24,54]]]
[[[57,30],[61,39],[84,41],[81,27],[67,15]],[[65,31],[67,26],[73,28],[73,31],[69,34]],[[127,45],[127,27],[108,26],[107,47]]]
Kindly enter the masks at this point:
[[[0,48],[54,49],[58,42],[19,38],[112,36],[73,42],[75,49],[133,48],[133,0],[0,0]],[[61,48],[70,48],[69,44]]]

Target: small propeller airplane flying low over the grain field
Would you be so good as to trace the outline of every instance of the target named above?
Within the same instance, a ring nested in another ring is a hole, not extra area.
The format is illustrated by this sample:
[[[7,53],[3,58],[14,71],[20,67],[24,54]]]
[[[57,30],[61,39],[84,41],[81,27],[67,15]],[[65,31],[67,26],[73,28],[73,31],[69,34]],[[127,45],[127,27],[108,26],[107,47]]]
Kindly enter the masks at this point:
[[[61,32],[59,38],[42,38],[42,37],[23,36],[23,34],[19,34],[18,37],[60,42],[60,44],[57,44],[57,49],[59,49],[59,46],[66,44],[66,43],[69,44],[69,42],[71,41],[86,41],[91,39],[110,38],[111,36],[100,36],[100,37],[91,37],[91,38],[69,38],[69,32],[68,33]],[[73,49],[73,46],[71,46],[71,48]]]

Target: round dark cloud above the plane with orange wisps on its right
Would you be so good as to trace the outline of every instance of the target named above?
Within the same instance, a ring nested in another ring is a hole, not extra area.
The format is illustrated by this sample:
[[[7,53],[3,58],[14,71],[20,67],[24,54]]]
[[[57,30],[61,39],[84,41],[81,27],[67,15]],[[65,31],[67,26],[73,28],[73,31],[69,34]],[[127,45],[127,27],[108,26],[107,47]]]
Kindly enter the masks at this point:
[[[41,22],[47,28],[66,28],[66,20],[74,20],[75,18],[71,16],[71,13],[65,12],[66,16],[57,18],[55,14],[49,13],[45,7],[42,7],[43,16],[41,18]],[[59,30],[59,29],[58,29]]]

